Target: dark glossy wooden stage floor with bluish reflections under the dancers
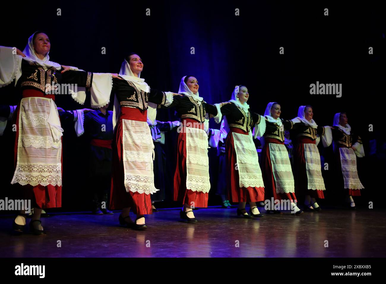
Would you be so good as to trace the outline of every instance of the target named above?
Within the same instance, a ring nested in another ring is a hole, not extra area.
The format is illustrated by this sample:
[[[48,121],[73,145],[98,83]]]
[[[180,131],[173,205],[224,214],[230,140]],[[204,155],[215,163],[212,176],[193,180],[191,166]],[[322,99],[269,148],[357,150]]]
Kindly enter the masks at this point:
[[[0,218],[1,257],[385,257],[385,211],[326,207],[299,216],[236,216],[236,208],[195,211],[198,224],[179,221],[179,209],[147,215],[146,231],[118,225],[119,212],[60,213],[42,218],[47,236],[12,235],[12,216]],[[247,207],[249,210],[249,207]],[[261,213],[265,213],[261,209]],[[134,215],[132,215],[134,219]],[[30,219],[27,219],[29,223]],[[28,224],[27,223],[27,224]],[[27,227],[27,226],[26,226]],[[57,246],[58,240],[61,247]],[[328,247],[325,246],[328,241]]]

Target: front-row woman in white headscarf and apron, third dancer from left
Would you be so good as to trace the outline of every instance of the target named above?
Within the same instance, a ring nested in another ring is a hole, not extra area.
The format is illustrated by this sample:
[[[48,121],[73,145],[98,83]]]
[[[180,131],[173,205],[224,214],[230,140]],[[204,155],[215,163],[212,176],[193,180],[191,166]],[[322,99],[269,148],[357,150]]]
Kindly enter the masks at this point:
[[[170,107],[176,107],[181,124],[178,128],[177,165],[174,173],[174,201],[184,204],[180,217],[188,223],[196,223],[194,207],[208,207],[209,159],[208,135],[204,130],[207,113],[215,121],[221,121],[220,107],[226,103],[207,104],[198,94],[198,81],[184,76],[179,84],[179,94]]]

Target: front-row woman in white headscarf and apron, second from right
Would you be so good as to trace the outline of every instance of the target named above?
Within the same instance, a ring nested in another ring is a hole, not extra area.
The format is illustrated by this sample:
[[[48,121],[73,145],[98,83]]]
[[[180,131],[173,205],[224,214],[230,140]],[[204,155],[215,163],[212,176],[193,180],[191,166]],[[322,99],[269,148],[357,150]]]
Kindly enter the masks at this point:
[[[318,136],[322,137],[323,146],[330,146],[332,134],[329,126],[318,126],[312,119],[311,105],[301,105],[298,117],[292,119],[294,123],[291,134],[295,137],[294,148],[294,177],[295,188],[305,194],[304,210],[321,211],[315,198],[324,198],[326,190],[322,177],[320,155],[317,147]]]

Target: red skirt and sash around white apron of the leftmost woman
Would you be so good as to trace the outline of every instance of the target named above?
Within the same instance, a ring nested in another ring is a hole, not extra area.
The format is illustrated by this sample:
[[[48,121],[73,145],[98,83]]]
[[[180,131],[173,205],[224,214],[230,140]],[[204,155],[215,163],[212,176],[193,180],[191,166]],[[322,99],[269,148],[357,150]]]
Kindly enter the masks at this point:
[[[54,95],[43,95],[42,92],[37,90],[27,89],[23,91],[23,98],[26,97],[45,97],[55,100]],[[20,103],[17,105],[17,108],[14,112],[14,116],[12,117],[12,124],[16,125],[15,132],[15,147],[14,147],[14,169],[16,170],[17,164],[17,149],[19,141],[19,112],[20,112]],[[60,119],[60,116],[59,116]],[[63,137],[62,137],[63,138]],[[62,142],[63,139],[61,138]],[[61,153],[61,172],[63,178],[63,148]],[[17,188],[17,194],[22,199],[30,199],[31,206],[34,208],[57,208],[62,207],[62,186],[61,185],[36,185],[32,186],[30,184],[21,185],[15,184],[15,188]]]

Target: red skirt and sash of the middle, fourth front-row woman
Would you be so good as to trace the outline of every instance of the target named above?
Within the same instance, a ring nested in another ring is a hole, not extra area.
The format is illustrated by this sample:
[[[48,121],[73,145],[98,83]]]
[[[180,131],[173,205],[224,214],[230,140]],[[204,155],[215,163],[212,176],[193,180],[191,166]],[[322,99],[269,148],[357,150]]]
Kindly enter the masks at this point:
[[[236,150],[232,132],[248,135],[239,128],[230,128],[225,141],[227,165],[227,196],[232,202],[257,202],[264,201],[264,187],[240,187],[239,173],[236,170]]]

